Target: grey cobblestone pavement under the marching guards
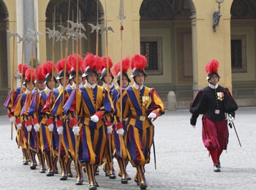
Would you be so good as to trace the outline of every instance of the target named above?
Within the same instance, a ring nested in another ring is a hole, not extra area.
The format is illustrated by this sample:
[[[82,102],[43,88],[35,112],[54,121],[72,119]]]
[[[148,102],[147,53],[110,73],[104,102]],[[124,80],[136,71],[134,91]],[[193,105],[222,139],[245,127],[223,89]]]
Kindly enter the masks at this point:
[[[203,147],[201,121],[195,129],[189,125],[188,110],[166,112],[155,121],[155,145],[157,170],[154,170],[154,155],[146,165],[148,189],[256,189],[256,107],[239,108],[236,112],[236,134],[230,129],[227,153],[222,153],[222,172],[214,172],[211,158]],[[0,117],[0,189],[88,189],[85,179],[82,186],[75,186],[75,178],[60,181],[59,175],[46,177],[39,169],[23,166],[22,153],[15,140],[10,140],[10,123]],[[118,169],[116,162],[114,163]],[[59,168],[60,170],[60,168]],[[121,178],[110,180],[100,167],[98,189],[139,189],[134,182],[135,169],[129,164],[127,171],[132,177],[128,184]],[[75,170],[72,168],[73,175]],[[86,175],[85,175],[86,177]]]

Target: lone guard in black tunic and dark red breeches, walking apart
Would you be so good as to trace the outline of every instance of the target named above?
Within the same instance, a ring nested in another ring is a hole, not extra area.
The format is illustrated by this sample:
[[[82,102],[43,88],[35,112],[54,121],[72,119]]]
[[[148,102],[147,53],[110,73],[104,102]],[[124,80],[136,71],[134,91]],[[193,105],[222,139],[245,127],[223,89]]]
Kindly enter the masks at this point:
[[[227,88],[219,86],[219,62],[216,59],[206,64],[208,86],[198,91],[190,104],[190,124],[195,128],[197,117],[202,117],[203,145],[207,148],[214,163],[214,172],[220,172],[219,157],[227,149],[227,120],[235,120],[236,102]]]

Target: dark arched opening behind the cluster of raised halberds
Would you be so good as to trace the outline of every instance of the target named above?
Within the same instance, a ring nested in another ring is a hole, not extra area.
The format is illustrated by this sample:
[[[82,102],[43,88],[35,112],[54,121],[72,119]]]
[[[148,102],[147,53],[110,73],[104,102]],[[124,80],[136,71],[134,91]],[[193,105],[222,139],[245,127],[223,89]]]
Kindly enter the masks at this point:
[[[79,0],[78,7],[77,7],[77,1],[71,0],[70,1],[70,7],[69,7],[69,0],[50,0],[47,6],[47,9],[45,11],[45,26],[47,28],[53,28],[53,12],[54,7],[56,7],[56,30],[60,31],[59,25],[63,25],[64,27],[67,27],[67,20],[69,17],[69,20],[73,20],[76,23],[77,20],[77,13],[78,9],[80,10],[80,22],[83,23],[83,26],[86,28],[86,31],[83,31],[84,34],[86,34],[87,39],[82,38],[82,54],[86,52],[96,53],[96,32],[94,31],[91,33],[91,26],[88,25],[88,23],[92,23],[94,25],[97,24],[97,0],[90,1],[90,0]],[[68,14],[69,9],[69,14]],[[99,24],[104,22],[104,11],[102,4],[99,1],[99,9],[98,9],[98,15],[99,15]],[[99,55],[102,54],[102,45],[101,45],[102,37],[99,35]],[[64,41],[65,43],[65,41]],[[75,42],[74,42],[75,43]],[[75,52],[75,45],[72,42],[72,39],[69,39],[69,54],[72,54]],[[51,52],[51,46],[52,43],[50,40],[47,39],[46,42],[47,45],[47,58],[52,57]],[[74,48],[73,48],[74,47]],[[56,51],[60,51],[60,42],[56,43]],[[72,49],[72,50],[71,50]],[[59,56],[59,57],[58,57]],[[60,55],[56,55],[56,60],[59,60],[61,57]]]

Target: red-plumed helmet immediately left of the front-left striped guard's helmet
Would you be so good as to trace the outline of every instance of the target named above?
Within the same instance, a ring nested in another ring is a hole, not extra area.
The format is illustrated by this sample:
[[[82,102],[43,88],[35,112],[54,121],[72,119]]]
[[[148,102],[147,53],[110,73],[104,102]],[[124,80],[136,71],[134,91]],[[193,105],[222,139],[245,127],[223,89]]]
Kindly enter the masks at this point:
[[[84,72],[83,71],[83,58],[75,53],[75,54],[67,57],[67,63],[72,66],[72,68],[70,70],[69,79],[72,79],[76,75],[77,58],[78,58],[78,75],[83,75],[83,72]]]

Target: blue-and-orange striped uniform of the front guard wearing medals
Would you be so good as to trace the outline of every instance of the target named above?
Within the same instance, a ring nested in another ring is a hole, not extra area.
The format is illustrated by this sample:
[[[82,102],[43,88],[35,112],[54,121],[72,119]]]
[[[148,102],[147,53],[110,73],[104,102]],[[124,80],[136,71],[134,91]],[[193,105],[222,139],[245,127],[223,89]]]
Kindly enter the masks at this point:
[[[114,104],[117,118],[120,118],[120,94]],[[154,139],[154,125],[147,115],[165,113],[165,106],[154,88],[143,86],[140,90],[128,87],[122,94],[122,118],[127,120],[127,153],[133,167],[137,168],[135,180],[146,183],[145,164],[150,160],[150,149]],[[118,119],[119,121],[119,119]]]

